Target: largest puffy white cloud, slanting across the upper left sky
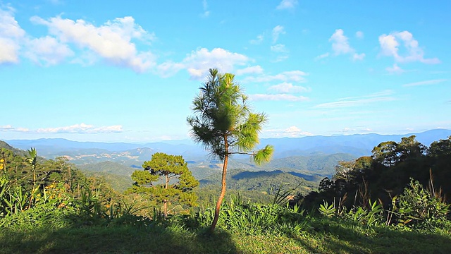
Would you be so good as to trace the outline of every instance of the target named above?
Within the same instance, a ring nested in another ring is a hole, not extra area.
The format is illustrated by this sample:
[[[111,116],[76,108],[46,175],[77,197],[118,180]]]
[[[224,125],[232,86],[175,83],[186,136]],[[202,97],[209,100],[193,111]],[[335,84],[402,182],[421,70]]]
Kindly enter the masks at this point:
[[[98,27],[81,19],[74,21],[55,17],[44,20],[35,16],[31,20],[47,25],[49,33],[59,41],[89,49],[113,65],[125,66],[141,73],[155,64],[151,52],[138,52],[132,42],[141,40],[149,43],[154,40],[154,35],[137,25],[132,17],[116,18]]]

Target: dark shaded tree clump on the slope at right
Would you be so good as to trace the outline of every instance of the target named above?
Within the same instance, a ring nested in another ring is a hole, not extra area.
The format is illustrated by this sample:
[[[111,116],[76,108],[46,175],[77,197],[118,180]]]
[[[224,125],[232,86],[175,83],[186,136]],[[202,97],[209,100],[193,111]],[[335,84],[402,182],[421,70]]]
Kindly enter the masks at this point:
[[[297,202],[318,205],[326,200],[346,207],[369,205],[378,200],[393,207],[412,181],[449,202],[451,198],[451,136],[434,141],[429,147],[415,135],[400,142],[386,141],[373,148],[371,156],[339,162],[335,174],[319,183],[319,191],[298,196]]]

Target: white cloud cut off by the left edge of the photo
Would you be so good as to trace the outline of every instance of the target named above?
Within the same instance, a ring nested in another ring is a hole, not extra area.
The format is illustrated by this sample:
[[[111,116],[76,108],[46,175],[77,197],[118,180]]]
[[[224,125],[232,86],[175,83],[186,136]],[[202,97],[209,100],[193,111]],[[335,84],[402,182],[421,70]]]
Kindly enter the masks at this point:
[[[13,9],[0,8],[0,64],[18,63],[18,51],[20,40],[25,36],[25,31],[13,16]]]

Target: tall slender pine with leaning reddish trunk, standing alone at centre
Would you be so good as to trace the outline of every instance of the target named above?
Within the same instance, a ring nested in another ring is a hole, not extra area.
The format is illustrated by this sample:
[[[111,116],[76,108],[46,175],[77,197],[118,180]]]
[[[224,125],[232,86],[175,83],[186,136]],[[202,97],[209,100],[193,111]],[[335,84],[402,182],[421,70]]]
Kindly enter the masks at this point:
[[[231,73],[220,74],[210,69],[206,83],[200,87],[200,94],[194,98],[194,116],[187,118],[194,141],[202,143],[212,157],[223,161],[221,194],[216,203],[214,219],[210,227],[213,232],[218,222],[219,210],[226,195],[226,173],[228,157],[233,154],[250,155],[254,162],[268,162],[273,147],[266,145],[253,152],[259,143],[259,131],[266,121],[265,114],[256,114],[247,105],[247,96]]]

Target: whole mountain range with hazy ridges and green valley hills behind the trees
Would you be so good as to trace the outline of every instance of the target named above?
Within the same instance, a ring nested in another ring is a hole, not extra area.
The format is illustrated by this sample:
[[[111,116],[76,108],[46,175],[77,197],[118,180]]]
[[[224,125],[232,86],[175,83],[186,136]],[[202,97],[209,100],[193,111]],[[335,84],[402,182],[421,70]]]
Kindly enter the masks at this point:
[[[274,146],[272,161],[257,166],[249,157],[231,157],[228,165],[229,187],[268,193],[280,183],[291,187],[302,183],[302,186],[308,187],[304,191],[309,191],[323,177],[333,175],[338,162],[369,156],[373,147],[379,143],[400,142],[402,137],[410,135],[416,135],[416,140],[429,146],[433,141],[451,136],[451,131],[436,129],[405,135],[359,134],[261,139],[260,146]],[[108,179],[120,191],[131,186],[132,172],[141,170],[142,163],[151,159],[155,152],[183,155],[193,176],[202,186],[218,184],[221,175],[221,162],[211,159],[202,145],[194,144],[191,140],[145,144],[78,142],[61,138],[5,141],[6,143],[0,141],[0,147],[23,155],[26,154],[23,150],[35,147],[40,157],[66,157],[87,174]]]

